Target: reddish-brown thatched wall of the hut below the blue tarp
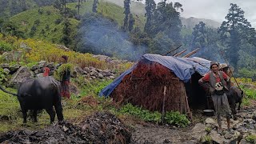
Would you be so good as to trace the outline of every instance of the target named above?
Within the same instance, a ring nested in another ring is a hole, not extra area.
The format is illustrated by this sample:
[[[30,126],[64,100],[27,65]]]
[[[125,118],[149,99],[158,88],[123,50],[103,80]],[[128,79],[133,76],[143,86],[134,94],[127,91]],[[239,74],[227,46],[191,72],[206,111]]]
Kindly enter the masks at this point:
[[[184,83],[158,62],[138,62],[138,66],[122,79],[110,97],[114,102],[130,102],[147,110],[162,111],[162,105],[165,103],[165,111],[190,113]]]

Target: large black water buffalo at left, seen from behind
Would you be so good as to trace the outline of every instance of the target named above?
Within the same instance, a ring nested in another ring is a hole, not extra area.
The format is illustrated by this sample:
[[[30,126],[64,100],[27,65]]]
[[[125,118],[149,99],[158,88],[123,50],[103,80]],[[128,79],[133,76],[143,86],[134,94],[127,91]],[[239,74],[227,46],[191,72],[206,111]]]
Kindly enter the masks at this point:
[[[2,89],[2,87],[0,87]],[[50,115],[50,122],[54,122],[55,111],[58,121],[63,120],[60,82],[52,77],[26,79],[18,88],[18,102],[20,103],[23,123],[26,123],[27,110],[33,110],[34,122],[37,122],[37,111],[45,109]],[[2,89],[3,90],[3,89]],[[4,90],[6,92],[6,90]],[[9,93],[11,94],[11,93]],[[53,109],[54,106],[54,109]]]

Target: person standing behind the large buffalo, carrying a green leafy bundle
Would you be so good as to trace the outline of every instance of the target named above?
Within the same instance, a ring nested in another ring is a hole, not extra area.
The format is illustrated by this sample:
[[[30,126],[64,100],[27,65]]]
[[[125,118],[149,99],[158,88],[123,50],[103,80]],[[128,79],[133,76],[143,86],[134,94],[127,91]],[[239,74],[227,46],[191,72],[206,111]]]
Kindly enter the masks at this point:
[[[62,63],[60,66],[63,64],[66,64],[68,60],[68,57],[66,55],[62,55]],[[62,86],[62,91],[61,95],[62,97],[65,98],[70,98],[70,70],[66,67],[64,71],[62,71],[62,79],[61,79],[61,86]]]

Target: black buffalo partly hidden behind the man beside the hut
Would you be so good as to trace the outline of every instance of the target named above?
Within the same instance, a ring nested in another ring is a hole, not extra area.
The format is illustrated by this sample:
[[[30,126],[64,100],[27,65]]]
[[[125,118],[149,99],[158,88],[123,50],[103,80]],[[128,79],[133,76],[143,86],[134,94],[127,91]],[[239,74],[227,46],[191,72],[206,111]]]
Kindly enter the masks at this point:
[[[238,89],[238,87],[236,87],[236,86],[231,86],[230,90],[226,93],[226,96],[229,100],[230,109],[234,116],[234,114],[237,114],[236,103],[239,103],[238,110],[240,110],[240,106],[241,106],[242,98],[243,98],[243,91]]]

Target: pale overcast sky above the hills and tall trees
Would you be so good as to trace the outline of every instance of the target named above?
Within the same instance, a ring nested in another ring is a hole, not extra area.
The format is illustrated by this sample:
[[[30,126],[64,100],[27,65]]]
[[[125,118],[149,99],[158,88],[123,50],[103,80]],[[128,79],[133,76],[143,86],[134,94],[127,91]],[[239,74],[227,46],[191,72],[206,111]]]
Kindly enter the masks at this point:
[[[154,2],[158,3],[161,0]],[[184,18],[207,18],[218,22],[225,20],[230,3],[235,3],[245,11],[245,18],[256,27],[256,0],[167,0],[167,2],[180,2],[183,5]]]

